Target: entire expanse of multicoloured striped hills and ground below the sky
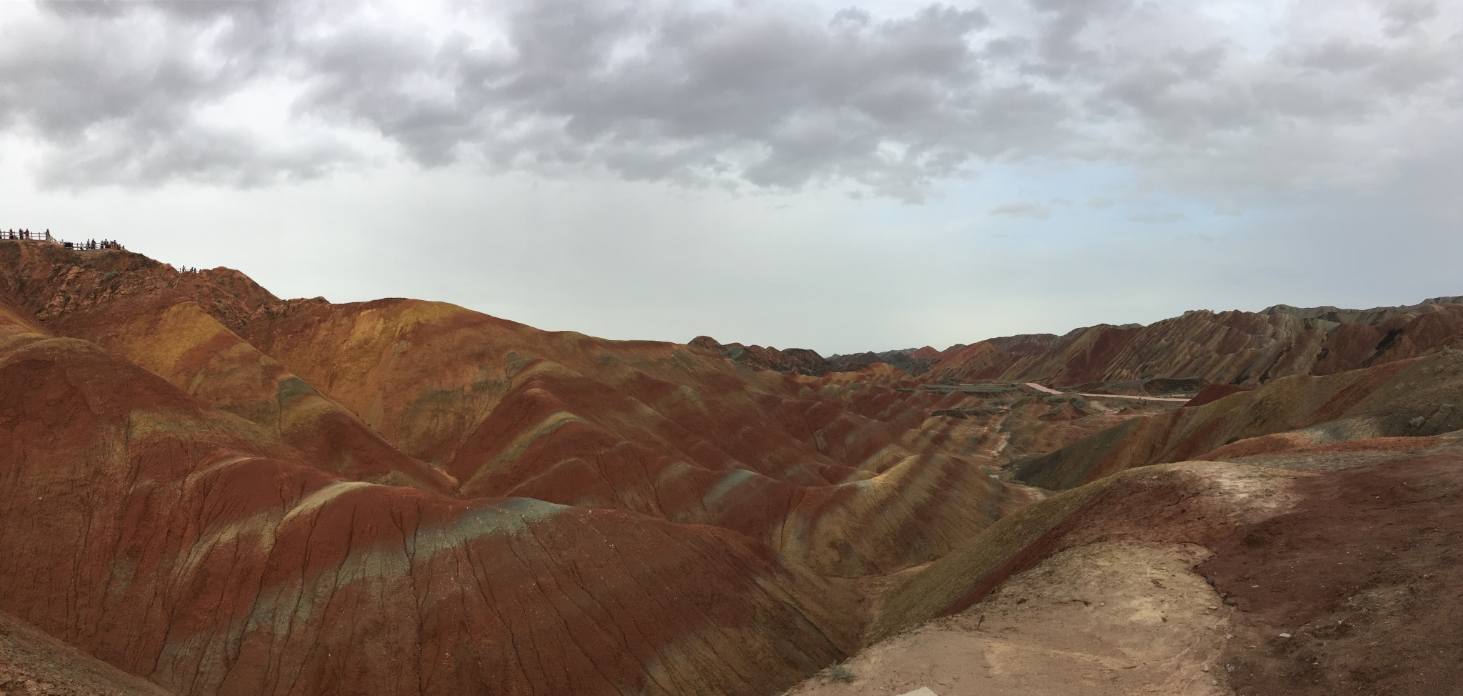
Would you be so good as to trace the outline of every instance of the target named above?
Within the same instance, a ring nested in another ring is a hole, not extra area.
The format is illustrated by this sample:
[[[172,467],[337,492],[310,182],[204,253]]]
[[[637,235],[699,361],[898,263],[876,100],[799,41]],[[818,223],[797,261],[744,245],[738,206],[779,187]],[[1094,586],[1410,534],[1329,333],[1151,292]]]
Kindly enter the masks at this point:
[[[1463,677],[1435,659],[1463,611],[1441,300],[895,351],[939,361],[914,376],[0,241],[0,678],[1437,693]]]

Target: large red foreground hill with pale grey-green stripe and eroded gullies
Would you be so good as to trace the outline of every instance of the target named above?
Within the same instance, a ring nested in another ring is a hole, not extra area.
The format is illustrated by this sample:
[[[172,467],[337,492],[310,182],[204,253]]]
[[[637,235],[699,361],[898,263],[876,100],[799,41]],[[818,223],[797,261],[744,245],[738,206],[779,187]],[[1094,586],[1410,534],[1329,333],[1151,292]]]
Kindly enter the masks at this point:
[[[177,693],[759,693],[857,636],[739,534],[347,481],[76,339],[0,355],[0,462],[3,608]]]

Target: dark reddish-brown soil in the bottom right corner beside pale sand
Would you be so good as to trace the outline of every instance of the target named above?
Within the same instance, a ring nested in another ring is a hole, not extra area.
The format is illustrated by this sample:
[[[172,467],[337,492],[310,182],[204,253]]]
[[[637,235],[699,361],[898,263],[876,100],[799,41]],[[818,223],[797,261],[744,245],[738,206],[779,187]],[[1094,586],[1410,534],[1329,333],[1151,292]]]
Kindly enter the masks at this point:
[[[1242,525],[1198,569],[1239,610],[1222,658],[1235,693],[1459,693],[1463,456],[1403,458],[1293,490],[1293,512]]]

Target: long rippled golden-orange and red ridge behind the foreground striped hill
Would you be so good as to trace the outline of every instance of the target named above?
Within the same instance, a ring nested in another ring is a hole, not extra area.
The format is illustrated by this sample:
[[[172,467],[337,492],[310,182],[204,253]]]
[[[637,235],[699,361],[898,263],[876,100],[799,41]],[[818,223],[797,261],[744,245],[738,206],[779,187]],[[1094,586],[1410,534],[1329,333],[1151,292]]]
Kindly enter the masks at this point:
[[[696,348],[414,300],[301,304],[244,338],[440,465],[462,496],[729,526],[825,573],[929,560],[1026,500],[958,443],[919,436],[941,395],[729,370]],[[948,532],[928,531],[930,510]]]

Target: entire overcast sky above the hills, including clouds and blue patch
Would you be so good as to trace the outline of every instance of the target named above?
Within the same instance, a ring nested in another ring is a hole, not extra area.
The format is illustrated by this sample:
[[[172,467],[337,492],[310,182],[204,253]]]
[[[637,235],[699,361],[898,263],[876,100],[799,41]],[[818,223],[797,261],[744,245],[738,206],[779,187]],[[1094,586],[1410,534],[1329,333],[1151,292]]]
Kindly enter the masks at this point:
[[[824,354],[1463,294],[1463,3],[0,1],[0,227]]]

